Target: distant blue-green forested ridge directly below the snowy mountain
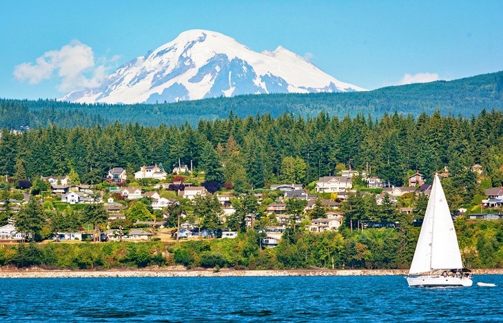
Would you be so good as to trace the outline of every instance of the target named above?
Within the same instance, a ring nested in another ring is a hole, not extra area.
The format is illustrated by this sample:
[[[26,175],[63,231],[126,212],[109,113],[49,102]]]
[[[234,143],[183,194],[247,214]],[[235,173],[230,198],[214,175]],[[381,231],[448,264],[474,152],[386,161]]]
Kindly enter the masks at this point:
[[[418,117],[435,111],[442,115],[469,117],[484,109],[503,110],[503,72],[455,81],[384,87],[369,92],[245,95],[178,103],[85,105],[56,100],[2,99],[0,127],[20,129],[50,124],[73,127],[115,121],[151,126],[184,123],[195,126],[201,119],[226,118],[231,112],[241,118],[263,114],[276,118],[285,112],[302,117],[317,116],[320,112],[340,118],[358,114],[380,118],[394,112]]]

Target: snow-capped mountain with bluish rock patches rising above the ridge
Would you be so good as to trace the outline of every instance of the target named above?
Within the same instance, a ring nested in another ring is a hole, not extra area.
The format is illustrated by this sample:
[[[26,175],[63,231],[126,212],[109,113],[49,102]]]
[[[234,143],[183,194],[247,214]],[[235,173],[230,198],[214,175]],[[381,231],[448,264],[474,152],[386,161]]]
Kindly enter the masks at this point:
[[[362,90],[281,46],[258,53],[224,34],[189,30],[125,63],[101,87],[70,92],[61,100],[161,103],[239,94]]]

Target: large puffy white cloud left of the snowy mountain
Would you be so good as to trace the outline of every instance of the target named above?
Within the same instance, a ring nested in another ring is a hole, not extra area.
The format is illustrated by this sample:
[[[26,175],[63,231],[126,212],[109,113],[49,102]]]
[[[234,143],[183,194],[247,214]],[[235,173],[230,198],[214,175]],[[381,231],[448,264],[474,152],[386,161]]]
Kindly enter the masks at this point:
[[[118,59],[118,56],[112,57],[113,61]],[[99,87],[107,76],[108,67],[105,66],[106,59],[98,61],[101,65],[96,65],[90,46],[75,40],[60,50],[45,52],[34,64],[17,65],[14,67],[14,78],[35,85],[52,79],[56,74],[61,79],[57,87],[61,92]]]

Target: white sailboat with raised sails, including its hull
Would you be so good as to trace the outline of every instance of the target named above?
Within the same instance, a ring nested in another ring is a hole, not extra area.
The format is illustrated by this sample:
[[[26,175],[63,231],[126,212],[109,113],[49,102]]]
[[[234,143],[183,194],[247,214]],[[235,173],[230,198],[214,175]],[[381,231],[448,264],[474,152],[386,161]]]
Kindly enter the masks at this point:
[[[469,270],[463,268],[451,212],[437,174],[431,187],[407,282],[409,286],[473,284]]]

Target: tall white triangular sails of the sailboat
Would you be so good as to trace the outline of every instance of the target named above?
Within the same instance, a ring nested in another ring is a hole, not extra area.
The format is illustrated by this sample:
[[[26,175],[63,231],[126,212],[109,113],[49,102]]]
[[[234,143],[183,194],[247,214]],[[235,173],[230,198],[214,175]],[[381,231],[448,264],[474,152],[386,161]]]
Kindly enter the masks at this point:
[[[435,175],[409,274],[462,269],[458,238],[438,175]]]

